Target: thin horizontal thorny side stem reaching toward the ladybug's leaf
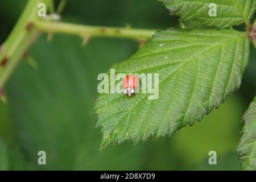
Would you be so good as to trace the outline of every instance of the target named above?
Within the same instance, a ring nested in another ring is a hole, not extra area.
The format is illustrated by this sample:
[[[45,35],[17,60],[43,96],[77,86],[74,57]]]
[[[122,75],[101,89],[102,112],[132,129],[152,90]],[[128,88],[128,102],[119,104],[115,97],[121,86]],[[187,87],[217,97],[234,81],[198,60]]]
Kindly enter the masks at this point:
[[[82,38],[92,36],[105,36],[116,38],[131,38],[137,40],[149,39],[156,30],[144,30],[134,28],[118,28],[118,27],[100,27],[100,26],[86,26],[72,23],[60,22],[33,22],[34,27],[42,32],[48,33],[62,33],[78,35]]]

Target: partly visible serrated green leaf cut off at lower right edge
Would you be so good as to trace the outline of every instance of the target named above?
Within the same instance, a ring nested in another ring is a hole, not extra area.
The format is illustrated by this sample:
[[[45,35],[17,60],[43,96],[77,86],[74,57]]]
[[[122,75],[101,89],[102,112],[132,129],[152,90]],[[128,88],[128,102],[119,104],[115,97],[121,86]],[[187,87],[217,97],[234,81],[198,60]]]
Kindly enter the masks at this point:
[[[256,97],[243,116],[245,126],[237,151],[242,162],[243,170],[256,170]]]

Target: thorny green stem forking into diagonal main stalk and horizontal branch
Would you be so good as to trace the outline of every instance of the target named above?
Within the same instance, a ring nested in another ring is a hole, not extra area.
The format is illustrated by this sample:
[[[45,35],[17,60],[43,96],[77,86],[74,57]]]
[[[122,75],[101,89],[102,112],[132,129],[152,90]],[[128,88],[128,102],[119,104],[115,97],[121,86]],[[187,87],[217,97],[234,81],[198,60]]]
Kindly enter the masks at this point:
[[[71,23],[49,22],[38,16],[38,4],[43,2],[53,13],[52,0],[30,0],[24,9],[22,16],[11,32],[6,42],[0,46],[0,89],[22,59],[27,49],[40,32],[63,33],[81,36],[87,42],[92,36],[107,36],[116,38],[130,38],[140,40],[142,43],[151,38],[155,30],[143,30],[133,28],[82,26]],[[59,10],[62,11],[66,1],[62,1]]]

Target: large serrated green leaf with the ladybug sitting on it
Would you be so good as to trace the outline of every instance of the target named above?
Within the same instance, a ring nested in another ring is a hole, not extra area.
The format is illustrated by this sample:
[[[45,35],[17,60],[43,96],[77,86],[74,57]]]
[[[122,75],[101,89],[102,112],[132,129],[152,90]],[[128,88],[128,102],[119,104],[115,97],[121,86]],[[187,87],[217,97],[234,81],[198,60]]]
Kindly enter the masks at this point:
[[[118,73],[159,73],[159,98],[139,93],[100,94],[94,113],[102,126],[101,148],[171,135],[200,121],[240,87],[249,39],[234,30],[156,32],[134,56],[113,66]]]

